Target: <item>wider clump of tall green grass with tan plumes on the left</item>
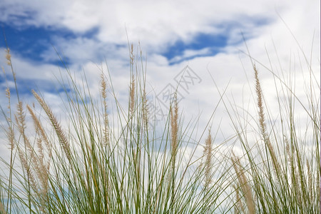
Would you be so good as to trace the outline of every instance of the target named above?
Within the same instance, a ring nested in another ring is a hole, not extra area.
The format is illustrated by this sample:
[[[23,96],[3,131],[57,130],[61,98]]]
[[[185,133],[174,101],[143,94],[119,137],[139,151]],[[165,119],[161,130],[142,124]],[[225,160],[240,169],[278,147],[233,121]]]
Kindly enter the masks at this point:
[[[213,168],[210,159],[215,154],[209,137],[205,167],[199,165],[201,158],[193,154],[203,142],[191,137],[195,127],[183,129],[176,96],[163,130],[151,125],[146,71],[135,60],[133,46],[130,56],[128,110],[119,103],[111,76],[103,68],[98,71],[98,100],[91,96],[86,76],[76,82],[66,68],[68,79],[62,78],[61,86],[68,123],[58,120],[41,91],[32,91],[36,104],[29,105],[19,100],[16,86],[19,102],[12,111],[7,89],[9,113],[3,113],[11,160],[1,160],[9,170],[0,176],[2,213],[208,213],[221,209],[229,176],[222,169],[228,160]],[[116,113],[109,115],[111,102]],[[210,182],[213,171],[217,175]]]

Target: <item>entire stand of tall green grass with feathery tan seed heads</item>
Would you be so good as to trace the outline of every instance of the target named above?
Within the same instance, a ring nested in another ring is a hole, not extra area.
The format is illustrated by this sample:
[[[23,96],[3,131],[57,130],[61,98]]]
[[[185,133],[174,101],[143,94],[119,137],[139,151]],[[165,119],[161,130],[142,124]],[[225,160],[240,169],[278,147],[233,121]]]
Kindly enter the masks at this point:
[[[0,213],[320,213],[320,85],[312,70],[305,102],[270,70],[276,114],[268,110],[254,64],[256,116],[221,94],[240,156],[220,151],[223,143],[213,148],[210,129],[204,142],[203,135],[193,139],[196,124],[184,126],[175,92],[163,128],[156,128],[146,68],[133,52],[130,46],[127,106],[118,101],[108,70],[99,69],[95,99],[86,75],[77,82],[66,67],[66,123],[41,91],[32,91],[36,104],[20,100],[6,49],[11,74],[4,76],[12,75],[15,87],[6,88],[8,111],[2,109],[10,158],[1,158]],[[296,105],[306,116],[303,130]],[[203,156],[196,157],[201,146]]]

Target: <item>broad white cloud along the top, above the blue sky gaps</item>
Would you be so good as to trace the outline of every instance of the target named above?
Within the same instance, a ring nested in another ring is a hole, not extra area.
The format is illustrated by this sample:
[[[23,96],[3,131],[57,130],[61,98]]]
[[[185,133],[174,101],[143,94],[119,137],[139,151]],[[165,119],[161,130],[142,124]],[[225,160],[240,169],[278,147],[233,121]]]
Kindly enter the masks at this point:
[[[190,41],[200,33],[218,34],[225,24],[253,29],[251,21],[276,18],[301,1],[3,1],[0,21],[14,24],[66,28],[74,32],[98,29],[98,39],[126,44],[142,41],[163,49],[178,39]],[[300,6],[300,5],[299,5]],[[297,7],[299,7],[297,6]],[[289,7],[289,8],[287,8]],[[16,16],[26,16],[16,21]],[[148,51],[152,50],[147,48]]]

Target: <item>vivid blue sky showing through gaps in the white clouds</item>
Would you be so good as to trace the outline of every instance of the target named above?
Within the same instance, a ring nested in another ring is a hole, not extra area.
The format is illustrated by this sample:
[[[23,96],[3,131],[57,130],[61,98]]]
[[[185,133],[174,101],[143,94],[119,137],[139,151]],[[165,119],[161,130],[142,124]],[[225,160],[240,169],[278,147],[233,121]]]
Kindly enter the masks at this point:
[[[260,27],[268,24],[270,17],[252,17],[248,20],[246,14],[243,14],[243,21],[248,21],[248,24],[252,24],[251,29],[255,27]],[[14,16],[13,24],[11,20],[2,21],[1,27],[6,35],[7,42],[10,46],[11,51],[16,52],[21,57],[24,57],[35,63],[52,63],[59,64],[60,60],[57,57],[47,58],[44,55],[47,51],[54,52],[54,49],[59,48],[59,41],[74,41],[76,39],[88,39],[91,41],[99,41],[98,34],[101,29],[99,26],[93,26],[91,29],[82,32],[76,32],[72,29],[68,29],[62,26],[34,26],[25,25],[24,21],[28,19],[34,19],[32,14],[26,13],[26,16]],[[164,56],[170,65],[174,63],[180,63],[182,61],[188,61],[193,58],[202,56],[215,56],[220,52],[224,52],[224,47],[228,46],[229,42],[233,42],[234,45],[238,45],[243,42],[243,38],[239,38],[237,41],[230,41],[230,31],[231,29],[238,29],[238,36],[243,31],[249,30],[240,21],[226,21],[222,24],[213,24],[213,29],[218,28],[218,32],[195,32],[188,37],[188,39],[175,38],[170,41],[165,41],[161,46],[165,46],[165,49],[160,51],[155,51],[151,54],[160,54]],[[244,28],[244,29],[243,29]],[[126,27],[123,29],[123,34],[126,34]],[[250,35],[248,35],[250,36]],[[130,39],[130,38],[129,38]],[[249,39],[245,36],[244,39]],[[127,41],[123,41],[122,46],[128,46]],[[112,44],[109,42],[109,44]],[[5,48],[6,44],[4,41],[4,36],[2,36],[1,47]],[[100,49],[103,49],[101,46]],[[61,50],[63,52],[63,50]],[[190,51],[190,54],[184,54],[185,51]],[[100,51],[98,51],[100,52]],[[152,52],[152,50],[149,50]],[[68,61],[68,56],[64,56],[63,61],[65,63],[70,63]],[[90,60],[101,59],[101,56],[93,56]],[[87,58],[89,59],[89,58]]]

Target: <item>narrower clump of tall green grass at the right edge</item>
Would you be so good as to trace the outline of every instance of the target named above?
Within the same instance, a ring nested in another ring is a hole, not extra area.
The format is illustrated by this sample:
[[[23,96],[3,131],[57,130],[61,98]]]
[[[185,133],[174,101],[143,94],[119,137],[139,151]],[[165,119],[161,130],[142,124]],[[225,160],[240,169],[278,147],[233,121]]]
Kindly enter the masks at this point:
[[[282,88],[277,90],[280,112],[273,121],[273,113],[264,108],[263,90],[255,65],[253,70],[258,107],[258,131],[254,131],[254,146],[248,135],[250,130],[242,126],[247,121],[237,125],[233,118],[244,152],[242,162],[234,155],[231,158],[236,173],[233,185],[235,212],[320,213],[320,96],[314,91],[308,92],[308,106],[304,106],[294,89],[271,71],[280,83],[277,85],[275,81],[275,87]],[[320,89],[315,79],[307,84],[310,89],[315,86]],[[295,118],[296,102],[303,109],[301,116],[305,113],[307,119],[303,136],[300,123]],[[266,115],[270,118],[268,127]],[[240,121],[240,117],[237,118]]]

